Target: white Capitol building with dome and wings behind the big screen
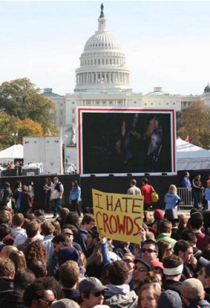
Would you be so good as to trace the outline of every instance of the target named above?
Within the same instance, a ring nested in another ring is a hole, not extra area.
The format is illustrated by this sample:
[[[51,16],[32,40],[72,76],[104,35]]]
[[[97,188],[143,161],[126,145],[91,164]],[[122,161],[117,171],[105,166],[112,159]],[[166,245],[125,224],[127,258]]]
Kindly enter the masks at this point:
[[[107,29],[107,20],[101,5],[98,30],[86,42],[80,56],[80,67],[76,69],[74,93],[59,95],[46,88],[43,95],[53,100],[58,127],[76,127],[76,107],[151,107],[186,109],[196,100],[210,106],[210,87],[205,87],[201,95],[171,95],[162,87],[142,94],[132,91],[130,71],[119,42]],[[68,130],[67,130],[68,131]]]

